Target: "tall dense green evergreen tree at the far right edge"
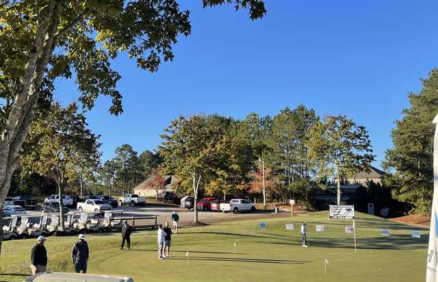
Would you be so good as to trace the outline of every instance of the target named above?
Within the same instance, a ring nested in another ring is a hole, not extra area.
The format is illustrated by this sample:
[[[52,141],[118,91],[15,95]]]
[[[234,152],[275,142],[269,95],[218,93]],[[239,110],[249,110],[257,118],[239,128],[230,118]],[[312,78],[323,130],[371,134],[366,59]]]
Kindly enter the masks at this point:
[[[402,111],[391,132],[393,148],[387,150],[384,183],[398,201],[413,204],[418,213],[430,213],[433,198],[432,120],[438,113],[438,69],[422,79],[422,90],[408,95],[411,107]],[[393,173],[394,172],[394,173]]]

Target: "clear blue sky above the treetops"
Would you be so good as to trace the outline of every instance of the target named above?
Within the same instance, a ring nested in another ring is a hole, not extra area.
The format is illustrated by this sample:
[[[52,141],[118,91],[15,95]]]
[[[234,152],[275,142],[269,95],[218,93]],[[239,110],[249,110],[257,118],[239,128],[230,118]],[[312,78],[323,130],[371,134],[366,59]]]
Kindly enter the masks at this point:
[[[273,116],[302,103],[365,126],[380,166],[407,92],[438,66],[438,1],[266,2],[268,14],[250,21],[231,6],[204,10],[201,0],[181,0],[192,35],[180,38],[174,62],[151,74],[121,55],[113,66],[125,112],[111,116],[101,98],[87,114],[103,159],[125,143],[155,149],[179,115]],[[75,97],[72,81],[57,82],[55,99]]]

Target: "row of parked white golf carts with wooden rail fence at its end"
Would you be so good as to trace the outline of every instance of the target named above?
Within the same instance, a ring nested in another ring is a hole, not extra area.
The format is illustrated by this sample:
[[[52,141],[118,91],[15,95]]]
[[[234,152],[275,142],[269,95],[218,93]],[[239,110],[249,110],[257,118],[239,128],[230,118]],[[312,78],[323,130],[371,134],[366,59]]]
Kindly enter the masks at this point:
[[[107,211],[103,216],[100,213],[88,212],[66,213],[64,214],[64,230],[61,227],[60,213],[10,216],[2,220],[3,240],[31,238],[40,235],[120,231],[124,220],[128,220],[134,229],[157,228],[156,215],[128,216],[120,210]]]

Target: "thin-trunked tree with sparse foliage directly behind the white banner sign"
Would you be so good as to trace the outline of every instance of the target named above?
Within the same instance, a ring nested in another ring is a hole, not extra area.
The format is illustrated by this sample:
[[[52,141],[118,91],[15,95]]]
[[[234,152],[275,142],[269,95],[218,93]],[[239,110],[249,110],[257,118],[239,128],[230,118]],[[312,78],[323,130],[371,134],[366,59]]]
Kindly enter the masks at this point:
[[[369,170],[374,160],[365,127],[346,116],[326,116],[312,128],[309,153],[320,164],[320,177],[337,182],[337,205],[341,203],[341,181],[360,170]]]

